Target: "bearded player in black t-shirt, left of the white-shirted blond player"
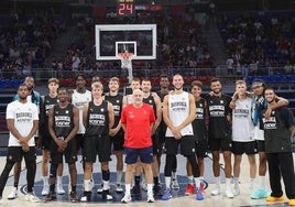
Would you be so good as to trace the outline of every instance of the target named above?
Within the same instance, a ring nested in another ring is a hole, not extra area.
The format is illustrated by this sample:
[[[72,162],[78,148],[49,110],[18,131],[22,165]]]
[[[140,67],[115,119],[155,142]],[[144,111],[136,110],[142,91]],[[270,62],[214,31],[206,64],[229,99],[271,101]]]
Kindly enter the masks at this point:
[[[221,89],[222,85],[219,79],[211,79],[211,92],[207,95],[207,110],[209,115],[208,124],[208,143],[209,150],[212,154],[212,170],[216,179],[216,188],[211,192],[212,196],[221,193],[220,187],[220,150],[222,151],[225,160],[225,174],[226,174],[226,196],[233,198],[231,190],[231,109],[229,103],[231,98],[223,95]]]

